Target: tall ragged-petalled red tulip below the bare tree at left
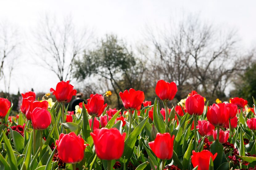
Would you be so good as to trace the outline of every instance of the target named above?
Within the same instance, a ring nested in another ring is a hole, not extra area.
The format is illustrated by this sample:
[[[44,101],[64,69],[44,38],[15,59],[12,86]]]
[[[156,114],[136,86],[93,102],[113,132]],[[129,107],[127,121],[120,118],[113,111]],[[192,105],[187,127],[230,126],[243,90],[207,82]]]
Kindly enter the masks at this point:
[[[69,81],[61,81],[56,85],[56,90],[53,88],[50,89],[52,94],[55,95],[57,101],[59,102],[70,102],[72,99],[72,96],[76,95],[76,90],[73,89],[74,86],[69,84]]]

